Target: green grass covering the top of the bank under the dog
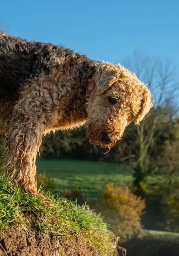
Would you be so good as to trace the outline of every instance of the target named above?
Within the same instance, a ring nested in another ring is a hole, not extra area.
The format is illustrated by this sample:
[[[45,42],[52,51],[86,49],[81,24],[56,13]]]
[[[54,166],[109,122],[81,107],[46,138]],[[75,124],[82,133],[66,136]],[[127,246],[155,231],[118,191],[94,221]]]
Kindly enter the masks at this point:
[[[26,230],[35,230],[39,236],[63,236],[68,240],[83,237],[99,253],[94,255],[113,255],[114,236],[100,215],[65,198],[55,198],[49,193],[45,197],[52,201],[52,207],[46,207],[41,198],[25,194],[19,186],[13,189],[1,176],[0,230],[23,224]]]

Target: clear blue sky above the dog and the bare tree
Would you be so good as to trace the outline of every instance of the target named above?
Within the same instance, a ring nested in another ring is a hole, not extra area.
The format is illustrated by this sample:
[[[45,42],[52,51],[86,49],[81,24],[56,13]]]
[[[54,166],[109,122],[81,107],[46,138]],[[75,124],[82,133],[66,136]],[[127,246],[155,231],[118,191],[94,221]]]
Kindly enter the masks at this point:
[[[1,1],[0,29],[99,61],[121,63],[139,50],[179,66],[178,0]]]

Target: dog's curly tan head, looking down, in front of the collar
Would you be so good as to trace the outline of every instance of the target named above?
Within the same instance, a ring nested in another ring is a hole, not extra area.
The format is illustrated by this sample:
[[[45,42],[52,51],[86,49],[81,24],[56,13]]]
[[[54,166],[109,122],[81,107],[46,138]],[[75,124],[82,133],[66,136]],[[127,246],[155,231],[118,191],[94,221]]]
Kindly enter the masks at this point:
[[[153,98],[146,85],[120,65],[100,64],[93,86],[85,123],[87,136],[94,145],[109,151],[132,120],[136,124],[142,121],[153,106]]]

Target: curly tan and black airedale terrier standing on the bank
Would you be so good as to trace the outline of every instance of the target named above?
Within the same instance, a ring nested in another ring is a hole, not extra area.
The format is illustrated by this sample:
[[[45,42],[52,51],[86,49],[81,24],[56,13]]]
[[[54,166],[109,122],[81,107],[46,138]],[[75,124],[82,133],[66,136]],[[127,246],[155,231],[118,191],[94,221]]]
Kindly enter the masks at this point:
[[[109,151],[152,106],[146,85],[119,64],[0,33],[4,168],[25,192],[38,195],[35,161],[44,134],[85,123],[89,140]]]

